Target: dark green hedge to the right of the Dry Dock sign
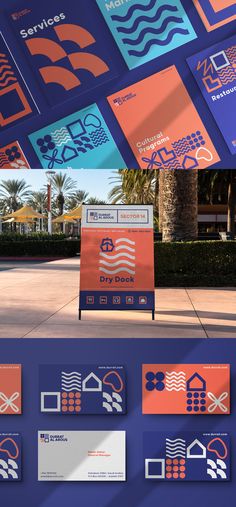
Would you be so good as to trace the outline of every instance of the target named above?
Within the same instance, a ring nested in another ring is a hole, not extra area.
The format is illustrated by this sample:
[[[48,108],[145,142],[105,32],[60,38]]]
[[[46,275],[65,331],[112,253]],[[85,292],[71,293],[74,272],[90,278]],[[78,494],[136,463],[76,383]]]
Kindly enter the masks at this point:
[[[155,243],[156,286],[236,286],[236,241]]]

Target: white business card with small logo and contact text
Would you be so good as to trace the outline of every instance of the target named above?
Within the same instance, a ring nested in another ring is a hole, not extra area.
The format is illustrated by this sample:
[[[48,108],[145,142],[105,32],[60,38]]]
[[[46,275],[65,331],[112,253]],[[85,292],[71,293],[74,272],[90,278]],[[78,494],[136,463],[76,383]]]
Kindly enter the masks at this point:
[[[125,481],[125,431],[40,431],[39,481]]]

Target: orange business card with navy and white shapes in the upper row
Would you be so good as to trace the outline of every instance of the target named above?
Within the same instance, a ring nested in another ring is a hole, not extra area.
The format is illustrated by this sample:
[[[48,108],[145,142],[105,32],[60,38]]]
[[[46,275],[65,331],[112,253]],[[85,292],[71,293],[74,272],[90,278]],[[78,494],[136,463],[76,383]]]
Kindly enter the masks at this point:
[[[223,400],[223,404],[227,407],[227,412],[222,412],[219,407],[210,415],[230,414],[230,366],[224,365],[202,365],[202,364],[144,364],[142,369],[142,411],[143,414],[191,414],[202,415],[202,412],[188,412],[187,407],[187,391],[147,391],[146,373],[157,372],[181,372],[186,373],[188,380],[195,372],[206,380],[206,393],[211,392],[216,398],[224,392],[228,393],[228,397]],[[166,378],[163,381],[166,383]],[[206,396],[206,407],[208,408],[213,402]],[[208,410],[204,412],[209,415]]]

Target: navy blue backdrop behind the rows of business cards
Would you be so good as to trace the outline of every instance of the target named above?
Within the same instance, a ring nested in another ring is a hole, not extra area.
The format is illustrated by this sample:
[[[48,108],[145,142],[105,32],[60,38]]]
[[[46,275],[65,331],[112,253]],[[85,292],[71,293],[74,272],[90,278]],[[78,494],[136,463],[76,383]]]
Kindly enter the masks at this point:
[[[23,415],[0,418],[0,432],[23,436],[23,481],[1,483],[1,505],[18,507],[231,507],[235,504],[236,427],[235,340],[1,340],[1,363],[23,364]],[[124,364],[128,413],[116,416],[63,417],[40,414],[38,365],[75,362]],[[230,416],[142,416],[142,363],[231,363]],[[126,483],[38,483],[37,430],[126,430]],[[232,480],[227,483],[159,483],[144,479],[144,431],[229,432]]]

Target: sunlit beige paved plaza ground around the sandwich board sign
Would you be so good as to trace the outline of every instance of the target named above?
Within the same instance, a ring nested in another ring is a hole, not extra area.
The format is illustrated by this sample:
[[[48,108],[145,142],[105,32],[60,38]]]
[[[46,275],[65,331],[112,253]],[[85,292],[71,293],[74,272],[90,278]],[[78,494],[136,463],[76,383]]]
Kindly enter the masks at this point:
[[[0,261],[0,338],[236,338],[236,289],[158,288],[151,314],[83,312],[79,258]]]

